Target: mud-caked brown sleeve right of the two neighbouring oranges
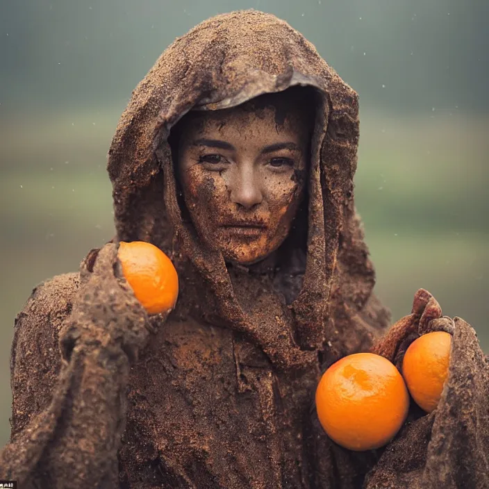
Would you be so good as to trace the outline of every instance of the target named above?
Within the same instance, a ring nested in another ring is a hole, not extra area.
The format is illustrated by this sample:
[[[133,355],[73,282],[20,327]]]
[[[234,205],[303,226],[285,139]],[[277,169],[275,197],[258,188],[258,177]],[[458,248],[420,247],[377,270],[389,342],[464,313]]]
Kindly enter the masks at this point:
[[[404,426],[365,488],[489,488],[489,364],[474,329],[459,317],[453,322],[438,407]]]

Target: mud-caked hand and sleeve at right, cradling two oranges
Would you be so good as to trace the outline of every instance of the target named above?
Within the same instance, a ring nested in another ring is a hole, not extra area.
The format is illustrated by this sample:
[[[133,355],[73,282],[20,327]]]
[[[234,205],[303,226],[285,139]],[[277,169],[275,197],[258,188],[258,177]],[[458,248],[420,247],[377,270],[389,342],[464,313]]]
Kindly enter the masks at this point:
[[[401,370],[411,342],[431,331],[452,336],[438,406],[426,414],[411,404],[408,422],[383,449],[363,483],[365,489],[489,487],[489,361],[472,326],[460,317],[442,316],[438,301],[420,289],[411,315],[392,326],[372,351]]]

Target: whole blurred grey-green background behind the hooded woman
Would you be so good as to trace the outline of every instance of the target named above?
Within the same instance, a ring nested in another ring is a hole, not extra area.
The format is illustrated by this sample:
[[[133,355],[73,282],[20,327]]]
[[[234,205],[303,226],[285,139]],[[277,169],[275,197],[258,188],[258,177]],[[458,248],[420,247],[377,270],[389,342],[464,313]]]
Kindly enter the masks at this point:
[[[131,90],[176,36],[257,8],[360,94],[356,204],[397,320],[417,288],[489,351],[489,3],[17,0],[0,15],[0,445],[13,322],[31,289],[113,236],[106,152]]]

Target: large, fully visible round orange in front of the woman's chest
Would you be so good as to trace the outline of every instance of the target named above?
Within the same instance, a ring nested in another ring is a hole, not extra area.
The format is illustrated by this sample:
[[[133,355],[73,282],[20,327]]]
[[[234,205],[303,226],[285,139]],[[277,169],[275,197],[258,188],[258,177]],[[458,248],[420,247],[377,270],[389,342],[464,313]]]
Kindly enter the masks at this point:
[[[350,450],[386,445],[406,420],[408,408],[404,379],[395,365],[376,354],[345,356],[317,385],[317,416],[324,431]]]

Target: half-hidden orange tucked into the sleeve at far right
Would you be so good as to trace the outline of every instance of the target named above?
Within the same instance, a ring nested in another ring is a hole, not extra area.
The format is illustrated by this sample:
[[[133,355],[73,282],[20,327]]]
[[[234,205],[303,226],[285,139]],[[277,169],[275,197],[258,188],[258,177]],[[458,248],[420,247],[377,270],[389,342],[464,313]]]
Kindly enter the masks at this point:
[[[402,375],[416,404],[431,413],[442,395],[450,363],[451,335],[426,333],[409,345],[402,360]]]

